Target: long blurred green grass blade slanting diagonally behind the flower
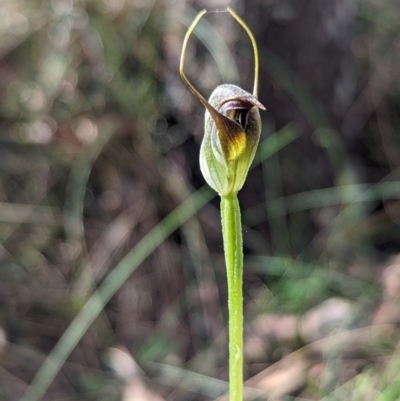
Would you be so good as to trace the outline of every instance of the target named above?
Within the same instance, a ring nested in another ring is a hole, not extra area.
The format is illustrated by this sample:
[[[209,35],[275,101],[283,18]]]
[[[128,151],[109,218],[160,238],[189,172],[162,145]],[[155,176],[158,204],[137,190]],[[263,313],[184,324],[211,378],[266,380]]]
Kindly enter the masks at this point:
[[[297,135],[291,130],[283,130],[282,132],[271,135],[271,137],[264,140],[260,146],[262,157],[258,158],[258,163],[289,144],[296,137]],[[215,195],[214,191],[208,186],[204,186],[198,190],[169,214],[160,224],[154,227],[135,248],[118,263],[63,333],[43,365],[39,368],[32,383],[20,401],[39,401],[43,397],[80,339],[128,277],[168,235],[175,231]]]

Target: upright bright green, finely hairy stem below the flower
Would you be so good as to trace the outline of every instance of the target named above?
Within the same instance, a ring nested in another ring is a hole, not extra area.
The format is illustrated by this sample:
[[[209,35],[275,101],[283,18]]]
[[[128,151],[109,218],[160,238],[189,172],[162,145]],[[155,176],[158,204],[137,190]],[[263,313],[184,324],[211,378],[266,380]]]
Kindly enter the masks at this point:
[[[229,399],[243,401],[243,241],[237,194],[221,197],[228,277]]]

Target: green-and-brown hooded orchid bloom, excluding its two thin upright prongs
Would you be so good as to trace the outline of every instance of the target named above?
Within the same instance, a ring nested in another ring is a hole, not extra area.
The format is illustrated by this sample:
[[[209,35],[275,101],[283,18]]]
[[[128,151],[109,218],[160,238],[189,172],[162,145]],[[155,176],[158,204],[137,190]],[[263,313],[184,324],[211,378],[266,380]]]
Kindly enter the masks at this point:
[[[260,140],[259,109],[265,107],[257,98],[235,85],[218,86],[209,99],[200,169],[221,196],[244,184]]]

